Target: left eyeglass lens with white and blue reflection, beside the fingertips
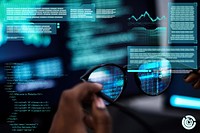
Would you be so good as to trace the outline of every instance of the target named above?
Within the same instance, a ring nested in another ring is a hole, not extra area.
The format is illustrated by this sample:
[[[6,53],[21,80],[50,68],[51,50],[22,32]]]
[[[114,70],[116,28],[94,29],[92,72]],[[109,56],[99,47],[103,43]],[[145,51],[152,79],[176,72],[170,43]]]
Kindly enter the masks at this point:
[[[120,96],[124,86],[124,73],[116,66],[103,66],[93,71],[88,81],[102,84],[103,90],[101,92],[115,101]]]

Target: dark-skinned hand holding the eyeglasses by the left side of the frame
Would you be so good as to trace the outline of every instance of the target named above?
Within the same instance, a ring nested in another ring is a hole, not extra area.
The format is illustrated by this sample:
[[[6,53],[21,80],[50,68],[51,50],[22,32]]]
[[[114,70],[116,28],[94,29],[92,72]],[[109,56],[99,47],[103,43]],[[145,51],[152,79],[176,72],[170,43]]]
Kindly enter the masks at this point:
[[[102,89],[96,83],[81,83],[65,90],[60,98],[49,133],[111,133],[111,118],[103,100],[95,95]],[[91,113],[84,111],[84,102],[92,105]]]

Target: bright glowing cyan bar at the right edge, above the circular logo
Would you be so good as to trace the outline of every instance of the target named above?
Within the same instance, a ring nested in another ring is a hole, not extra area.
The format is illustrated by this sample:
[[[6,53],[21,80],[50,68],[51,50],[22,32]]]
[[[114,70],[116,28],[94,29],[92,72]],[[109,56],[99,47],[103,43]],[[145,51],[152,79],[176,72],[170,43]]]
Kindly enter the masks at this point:
[[[174,107],[200,110],[200,98],[172,95],[170,97],[170,104]]]

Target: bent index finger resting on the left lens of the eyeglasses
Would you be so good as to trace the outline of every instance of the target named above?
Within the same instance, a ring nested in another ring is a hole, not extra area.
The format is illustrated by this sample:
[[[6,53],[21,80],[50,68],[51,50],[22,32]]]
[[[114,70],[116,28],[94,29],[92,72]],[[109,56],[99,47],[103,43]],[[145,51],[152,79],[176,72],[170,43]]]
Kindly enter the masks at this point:
[[[101,91],[102,85],[98,83],[88,83],[84,82],[74,87],[72,90],[76,95],[76,98],[79,102],[91,98],[93,94]]]

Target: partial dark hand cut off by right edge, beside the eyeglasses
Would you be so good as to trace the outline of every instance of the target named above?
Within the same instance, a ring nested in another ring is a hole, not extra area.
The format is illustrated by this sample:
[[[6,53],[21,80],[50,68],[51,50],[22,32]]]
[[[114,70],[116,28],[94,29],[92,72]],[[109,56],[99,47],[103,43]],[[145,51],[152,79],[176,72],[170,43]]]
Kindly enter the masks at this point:
[[[190,73],[185,78],[185,82],[192,83],[194,88],[200,89],[200,70]]]

